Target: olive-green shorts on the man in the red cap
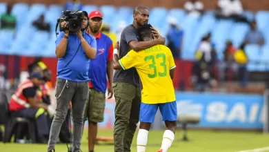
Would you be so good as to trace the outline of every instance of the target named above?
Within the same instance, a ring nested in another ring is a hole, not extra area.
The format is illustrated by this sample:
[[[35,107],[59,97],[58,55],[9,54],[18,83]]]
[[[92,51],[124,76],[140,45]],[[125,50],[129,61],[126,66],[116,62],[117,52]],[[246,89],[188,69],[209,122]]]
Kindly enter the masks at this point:
[[[84,111],[84,121],[103,122],[103,113],[106,106],[106,94],[90,88],[88,100]]]

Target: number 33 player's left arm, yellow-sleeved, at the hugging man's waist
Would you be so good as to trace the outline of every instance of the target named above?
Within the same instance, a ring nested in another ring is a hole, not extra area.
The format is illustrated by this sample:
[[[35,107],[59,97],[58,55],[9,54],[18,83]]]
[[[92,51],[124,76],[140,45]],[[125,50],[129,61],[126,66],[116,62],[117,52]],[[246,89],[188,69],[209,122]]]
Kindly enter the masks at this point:
[[[121,59],[119,59],[118,56],[118,50],[114,49],[113,51],[113,68],[115,70],[127,70],[129,68],[135,67],[137,66],[137,59],[136,59],[136,54],[134,50],[130,50],[129,53],[122,57]]]

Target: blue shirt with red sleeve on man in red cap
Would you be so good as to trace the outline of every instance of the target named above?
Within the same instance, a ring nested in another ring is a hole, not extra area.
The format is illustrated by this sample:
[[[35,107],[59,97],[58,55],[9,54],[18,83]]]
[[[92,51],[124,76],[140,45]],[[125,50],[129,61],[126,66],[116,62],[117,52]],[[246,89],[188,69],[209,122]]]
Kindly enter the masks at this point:
[[[96,37],[97,55],[90,61],[89,86],[97,91],[106,93],[106,69],[108,61],[113,59],[113,44],[108,35],[99,32]]]

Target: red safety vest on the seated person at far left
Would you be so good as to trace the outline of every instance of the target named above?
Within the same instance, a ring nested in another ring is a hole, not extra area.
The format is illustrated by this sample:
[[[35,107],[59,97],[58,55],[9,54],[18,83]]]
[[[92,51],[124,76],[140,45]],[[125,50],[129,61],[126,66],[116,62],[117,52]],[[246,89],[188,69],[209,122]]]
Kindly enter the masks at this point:
[[[34,86],[30,79],[26,80],[26,82],[23,82],[22,84],[19,84],[19,88],[17,88],[17,91],[11,96],[10,99],[10,111],[19,111],[22,108],[29,108],[30,104],[28,104],[28,100],[23,95],[23,89],[24,88],[30,88]]]

